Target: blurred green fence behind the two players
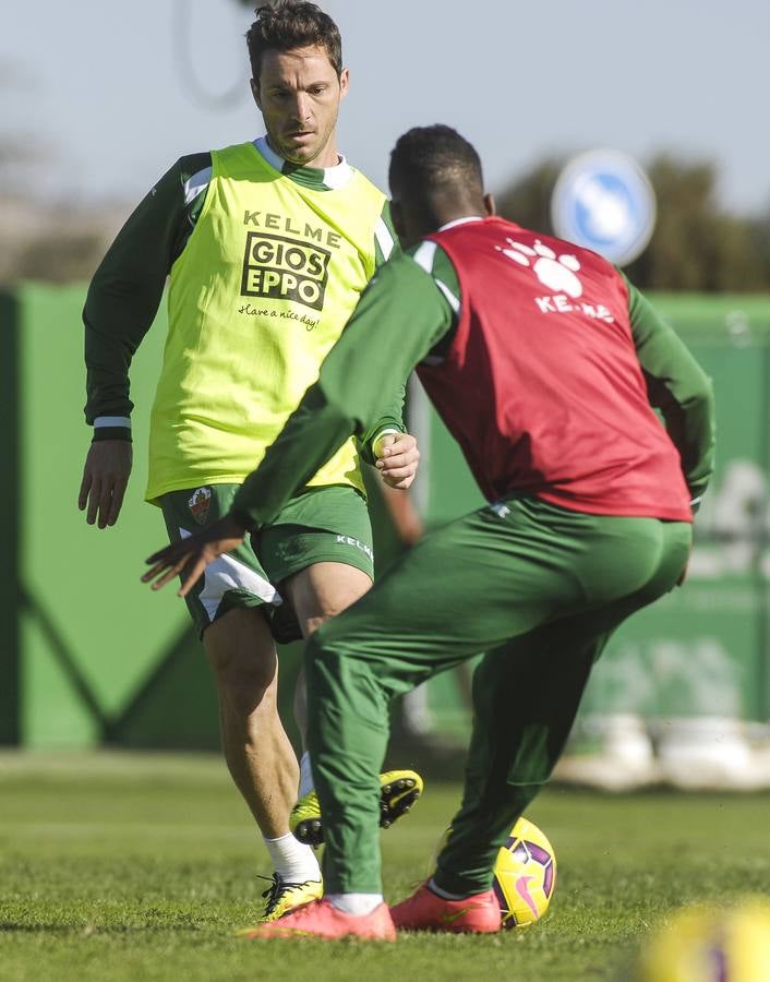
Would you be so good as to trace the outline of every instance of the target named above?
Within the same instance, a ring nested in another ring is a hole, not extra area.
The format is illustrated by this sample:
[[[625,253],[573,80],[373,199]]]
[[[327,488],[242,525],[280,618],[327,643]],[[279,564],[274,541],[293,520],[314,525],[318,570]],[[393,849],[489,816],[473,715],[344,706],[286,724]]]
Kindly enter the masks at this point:
[[[81,411],[83,298],[82,287],[38,285],[0,296],[0,743],[215,747],[213,682],[183,603],[139,583],[143,558],[165,535],[143,491],[166,316],[134,361],[134,474],[119,524],[100,531],[75,505],[89,439]],[[770,299],[657,300],[714,380],[718,475],[699,516],[687,588],[618,632],[587,703],[766,720]],[[414,493],[435,527],[480,499],[419,394],[410,414],[423,445]],[[285,696],[297,661],[296,647],[284,652]],[[452,676],[431,683],[438,727],[466,724],[461,690]]]

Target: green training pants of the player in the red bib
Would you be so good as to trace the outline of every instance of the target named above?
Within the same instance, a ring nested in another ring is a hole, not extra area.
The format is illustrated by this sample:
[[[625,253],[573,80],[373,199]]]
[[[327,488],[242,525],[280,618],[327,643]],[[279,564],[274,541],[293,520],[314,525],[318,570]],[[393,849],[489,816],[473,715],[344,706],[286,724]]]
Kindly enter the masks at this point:
[[[378,771],[388,703],[488,652],[473,678],[465,791],[435,881],[489,889],[500,847],[548,780],[594,660],[671,590],[691,526],[512,498],[441,528],[309,640],[309,749],[329,893],[381,893]]]

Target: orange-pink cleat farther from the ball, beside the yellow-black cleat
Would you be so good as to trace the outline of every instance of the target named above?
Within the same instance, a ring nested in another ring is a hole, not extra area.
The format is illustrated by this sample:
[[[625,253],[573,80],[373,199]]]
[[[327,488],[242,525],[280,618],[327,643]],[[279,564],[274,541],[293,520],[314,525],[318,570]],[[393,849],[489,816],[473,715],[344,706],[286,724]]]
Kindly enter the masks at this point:
[[[338,941],[342,937],[396,941],[396,929],[385,903],[380,903],[370,914],[358,917],[337,910],[326,899],[305,903],[277,921],[257,924],[239,934],[241,937],[277,937],[284,941],[298,937],[317,937],[323,941]]]

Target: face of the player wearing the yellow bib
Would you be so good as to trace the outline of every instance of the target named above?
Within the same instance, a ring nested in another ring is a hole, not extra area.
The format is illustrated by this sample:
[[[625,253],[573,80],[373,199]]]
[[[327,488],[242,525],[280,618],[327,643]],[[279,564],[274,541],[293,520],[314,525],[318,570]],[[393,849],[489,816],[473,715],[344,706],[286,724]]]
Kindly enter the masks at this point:
[[[337,116],[348,70],[338,77],[324,48],[266,51],[251,89],[269,144],[285,160],[312,167],[338,163]]]

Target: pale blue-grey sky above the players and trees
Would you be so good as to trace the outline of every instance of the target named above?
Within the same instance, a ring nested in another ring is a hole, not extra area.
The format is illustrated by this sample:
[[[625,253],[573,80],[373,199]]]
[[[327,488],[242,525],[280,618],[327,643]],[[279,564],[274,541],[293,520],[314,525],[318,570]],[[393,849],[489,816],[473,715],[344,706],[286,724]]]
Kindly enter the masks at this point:
[[[669,151],[715,163],[725,208],[770,208],[768,0],[321,5],[351,72],[340,148],[381,187],[397,136],[444,122],[493,192],[548,155]],[[32,149],[27,187],[44,196],[139,201],[182,154],[263,132],[251,20],[238,0],[8,0],[0,145]]]

